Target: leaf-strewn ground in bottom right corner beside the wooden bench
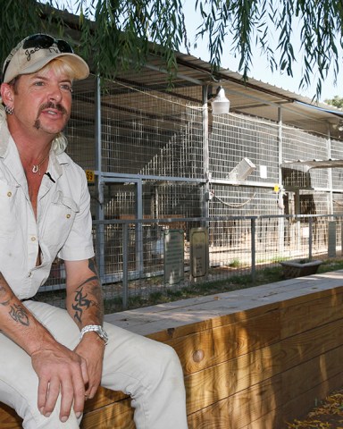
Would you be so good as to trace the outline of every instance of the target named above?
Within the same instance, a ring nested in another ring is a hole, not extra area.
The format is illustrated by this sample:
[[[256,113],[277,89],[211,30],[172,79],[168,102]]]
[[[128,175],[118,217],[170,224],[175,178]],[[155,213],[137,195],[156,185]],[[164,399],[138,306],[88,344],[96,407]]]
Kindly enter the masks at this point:
[[[302,420],[294,420],[287,429],[343,429],[343,388],[334,391]]]

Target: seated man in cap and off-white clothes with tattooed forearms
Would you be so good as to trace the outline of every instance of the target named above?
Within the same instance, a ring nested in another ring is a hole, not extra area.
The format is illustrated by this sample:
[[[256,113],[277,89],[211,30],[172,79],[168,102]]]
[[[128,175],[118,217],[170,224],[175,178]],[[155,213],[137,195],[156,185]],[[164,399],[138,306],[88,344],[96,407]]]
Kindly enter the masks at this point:
[[[72,81],[88,65],[63,40],[25,38],[4,62],[0,110],[0,401],[23,427],[78,428],[103,386],[131,395],[138,429],[187,428],[180,361],[103,327],[84,172],[64,153]],[[64,260],[67,310],[32,300]]]

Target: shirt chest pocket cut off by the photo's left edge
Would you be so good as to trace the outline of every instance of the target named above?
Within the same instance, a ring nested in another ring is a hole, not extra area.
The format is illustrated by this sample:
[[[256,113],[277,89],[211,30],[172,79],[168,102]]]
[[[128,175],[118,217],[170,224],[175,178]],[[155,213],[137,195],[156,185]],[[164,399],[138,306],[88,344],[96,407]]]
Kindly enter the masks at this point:
[[[21,225],[20,214],[25,213],[25,206],[21,206],[18,189],[16,185],[0,181],[0,238],[13,235]]]

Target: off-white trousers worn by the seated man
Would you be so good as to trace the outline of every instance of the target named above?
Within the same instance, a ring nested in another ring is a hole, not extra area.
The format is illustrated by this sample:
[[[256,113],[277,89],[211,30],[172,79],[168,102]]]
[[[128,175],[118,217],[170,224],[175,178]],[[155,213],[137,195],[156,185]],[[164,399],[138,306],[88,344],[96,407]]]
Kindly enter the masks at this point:
[[[75,348],[79,329],[65,310],[36,301],[24,304],[57,341]],[[105,331],[109,342],[101,384],[131,396],[136,427],[187,429],[183,374],[175,351],[113,324],[105,324]],[[25,429],[79,428],[73,413],[66,423],[60,422],[58,404],[50,417],[42,416],[37,407],[37,392],[38,377],[29,355],[0,333],[0,401],[16,410]]]

